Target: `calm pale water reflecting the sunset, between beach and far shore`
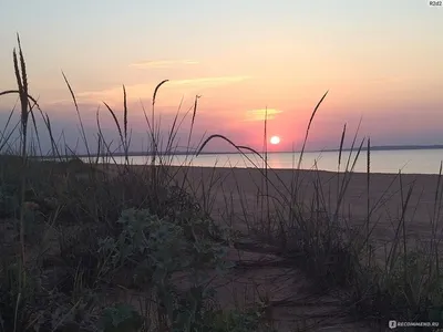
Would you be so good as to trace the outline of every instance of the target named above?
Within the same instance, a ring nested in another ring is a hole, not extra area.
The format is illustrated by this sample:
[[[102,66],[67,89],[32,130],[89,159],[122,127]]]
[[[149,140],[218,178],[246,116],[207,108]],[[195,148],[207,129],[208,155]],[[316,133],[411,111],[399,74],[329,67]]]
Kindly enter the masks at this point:
[[[210,154],[195,156],[167,156],[172,165],[190,165],[204,167],[256,167],[262,166],[264,162],[258,156],[239,154]],[[268,165],[272,168],[297,167],[299,153],[269,153]],[[338,152],[305,153],[301,168],[321,169],[336,172],[338,167]],[[344,170],[350,156],[349,152],[342,154],[341,170]],[[351,154],[350,165],[354,160],[356,153]],[[396,149],[396,151],[372,151],[371,173],[398,173],[404,174],[439,174],[440,162],[443,159],[443,149]],[[124,163],[124,157],[115,157],[117,163]],[[132,156],[130,163],[134,165],[148,164],[151,157]],[[367,153],[361,152],[354,170],[365,172]]]

